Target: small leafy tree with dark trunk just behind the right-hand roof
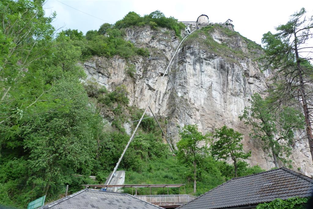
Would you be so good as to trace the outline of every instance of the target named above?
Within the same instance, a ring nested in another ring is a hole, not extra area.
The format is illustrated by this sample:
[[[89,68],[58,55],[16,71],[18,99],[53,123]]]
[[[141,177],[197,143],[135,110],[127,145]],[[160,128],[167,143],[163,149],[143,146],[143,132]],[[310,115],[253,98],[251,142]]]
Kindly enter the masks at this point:
[[[211,154],[217,159],[231,159],[234,165],[234,175],[237,177],[238,162],[251,156],[251,151],[243,152],[243,145],[240,143],[243,139],[242,133],[223,126],[215,129],[213,137],[218,140],[210,146]]]

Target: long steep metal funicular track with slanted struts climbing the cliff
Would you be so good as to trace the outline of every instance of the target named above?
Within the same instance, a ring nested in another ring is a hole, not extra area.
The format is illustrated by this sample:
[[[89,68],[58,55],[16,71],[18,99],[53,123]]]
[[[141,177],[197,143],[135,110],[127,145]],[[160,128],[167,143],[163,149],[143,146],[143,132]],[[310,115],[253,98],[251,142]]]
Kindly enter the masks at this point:
[[[195,30],[194,30],[194,31],[195,31]],[[194,31],[192,31],[190,34],[192,34]],[[177,47],[175,53],[174,53],[173,56],[172,56],[171,61],[168,63],[167,68],[166,68],[166,70],[164,71],[162,78],[160,79],[159,84],[158,84],[157,87],[156,87],[156,90],[154,91],[154,93],[153,93],[153,95],[152,95],[152,97],[151,97],[151,99],[150,99],[150,101],[149,101],[149,103],[148,103],[148,105],[147,105],[145,111],[143,112],[143,114],[142,114],[142,116],[141,116],[141,118],[140,118],[140,120],[139,120],[139,122],[138,122],[138,124],[137,124],[137,126],[136,126],[136,128],[135,128],[135,130],[134,130],[134,132],[131,134],[131,138],[129,138],[129,141],[128,141],[128,143],[126,144],[126,147],[125,147],[125,149],[124,149],[124,151],[123,151],[123,153],[122,153],[120,159],[117,161],[117,163],[116,163],[116,165],[115,165],[115,167],[114,167],[112,173],[110,174],[109,178],[106,180],[106,184],[110,184],[110,181],[112,180],[113,175],[115,174],[115,172],[116,172],[118,166],[120,165],[120,163],[121,163],[121,161],[122,161],[122,159],[123,159],[123,157],[124,157],[124,154],[126,153],[126,150],[127,150],[127,148],[129,147],[129,144],[131,144],[131,141],[133,140],[133,138],[134,138],[134,136],[135,136],[135,133],[136,133],[136,131],[137,131],[137,129],[138,129],[138,127],[139,127],[139,125],[140,125],[140,123],[141,123],[143,117],[145,116],[145,114],[146,114],[148,108],[150,108],[149,106],[150,106],[150,104],[151,104],[151,102],[152,102],[154,96],[156,95],[156,91],[157,91],[157,90],[159,89],[159,87],[161,86],[161,83],[162,83],[162,80],[163,80],[163,78],[164,78],[164,76],[165,76],[165,73],[168,72],[168,68],[170,67],[170,65],[171,65],[171,63],[172,63],[172,61],[173,61],[173,59],[174,59],[174,57],[175,57],[175,55],[176,55],[176,53],[177,53],[177,51],[178,51],[180,45],[181,45],[182,42],[187,38],[187,36],[190,35],[190,34],[187,34],[187,35],[182,39],[182,41],[180,42],[180,44],[178,45],[178,47]],[[171,80],[171,79],[170,79],[170,80]],[[171,80],[171,82],[172,82],[172,80]],[[172,84],[173,84],[173,83],[172,83]],[[174,89],[175,89],[175,87],[174,87]],[[176,89],[175,89],[175,91],[176,91]],[[177,92],[177,91],[176,91],[176,92]],[[151,111],[151,112],[152,112],[152,111]],[[153,114],[153,112],[152,112],[152,114]],[[153,116],[154,116],[154,114],[153,114]],[[154,116],[154,118],[156,119],[155,116]],[[159,124],[159,123],[158,123],[158,124]],[[161,126],[160,126],[160,128],[161,128]],[[161,129],[162,129],[162,128],[161,128]],[[164,134],[163,130],[162,130],[162,133]],[[165,134],[164,134],[164,135],[165,135]],[[166,136],[165,136],[165,138],[166,138]],[[166,139],[167,139],[167,138],[166,138]],[[169,144],[169,145],[170,145],[170,144]],[[170,147],[171,147],[171,145],[170,145]],[[171,147],[171,149],[172,149],[172,147]],[[172,149],[172,151],[173,151],[173,149]]]

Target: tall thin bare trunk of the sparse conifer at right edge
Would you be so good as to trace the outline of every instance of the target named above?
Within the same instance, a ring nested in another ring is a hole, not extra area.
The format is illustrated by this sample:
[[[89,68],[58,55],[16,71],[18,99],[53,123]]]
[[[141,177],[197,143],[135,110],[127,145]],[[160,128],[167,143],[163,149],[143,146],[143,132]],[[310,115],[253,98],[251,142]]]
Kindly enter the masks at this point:
[[[305,131],[306,131],[306,135],[307,135],[308,140],[309,140],[310,153],[311,153],[311,158],[312,158],[312,162],[313,162],[313,136],[312,136],[312,129],[311,129],[311,121],[310,121],[308,104],[306,102],[306,92],[305,92],[305,88],[304,88],[304,81],[303,81],[303,77],[302,77],[299,53],[298,53],[298,48],[297,48],[297,35],[296,35],[296,33],[294,33],[294,35],[295,35],[295,56],[297,59],[300,91],[301,91],[303,112],[304,112],[305,125],[306,125]]]

